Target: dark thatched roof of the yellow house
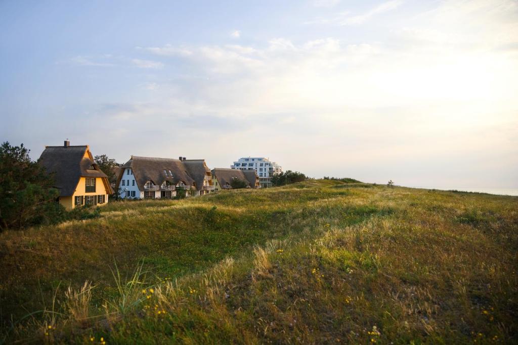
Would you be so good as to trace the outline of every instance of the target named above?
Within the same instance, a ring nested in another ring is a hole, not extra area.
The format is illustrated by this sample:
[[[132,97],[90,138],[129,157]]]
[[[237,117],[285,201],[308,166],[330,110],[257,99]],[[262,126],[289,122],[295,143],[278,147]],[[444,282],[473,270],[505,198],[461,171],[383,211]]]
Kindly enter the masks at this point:
[[[38,162],[48,173],[54,173],[55,187],[60,190],[61,197],[74,194],[81,176],[107,178],[92,159],[84,157],[87,150],[88,145],[46,146],[41,153]]]

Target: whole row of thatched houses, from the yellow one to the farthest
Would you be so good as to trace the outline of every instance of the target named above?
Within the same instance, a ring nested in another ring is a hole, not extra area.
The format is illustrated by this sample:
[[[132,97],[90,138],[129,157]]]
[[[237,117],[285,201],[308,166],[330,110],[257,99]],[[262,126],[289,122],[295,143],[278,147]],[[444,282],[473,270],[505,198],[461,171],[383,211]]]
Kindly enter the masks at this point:
[[[47,172],[53,173],[59,201],[67,209],[81,205],[103,205],[118,193],[124,199],[172,199],[203,196],[222,189],[232,189],[238,179],[247,188],[261,188],[255,170],[215,168],[204,159],[179,157],[155,158],[131,156],[117,171],[117,181],[110,185],[107,175],[94,163],[88,145],[46,146],[39,158]]]

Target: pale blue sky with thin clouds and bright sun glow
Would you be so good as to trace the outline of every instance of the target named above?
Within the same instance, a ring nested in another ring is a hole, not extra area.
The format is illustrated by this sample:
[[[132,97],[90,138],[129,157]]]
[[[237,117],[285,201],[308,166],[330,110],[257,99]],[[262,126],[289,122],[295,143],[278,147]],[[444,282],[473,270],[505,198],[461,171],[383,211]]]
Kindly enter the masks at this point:
[[[0,140],[518,188],[518,1],[0,1]]]

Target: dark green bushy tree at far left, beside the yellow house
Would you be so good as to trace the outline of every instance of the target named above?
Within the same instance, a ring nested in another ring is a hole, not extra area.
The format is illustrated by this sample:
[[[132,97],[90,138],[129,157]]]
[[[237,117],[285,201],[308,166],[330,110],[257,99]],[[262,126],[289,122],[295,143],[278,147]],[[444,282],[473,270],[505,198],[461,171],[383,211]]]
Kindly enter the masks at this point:
[[[0,146],[0,231],[20,229],[65,218],[65,208],[55,202],[59,191],[54,178],[29,157],[23,144]]]

